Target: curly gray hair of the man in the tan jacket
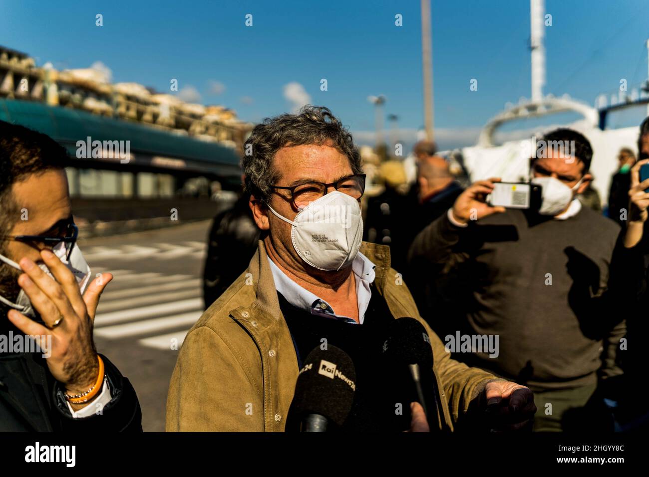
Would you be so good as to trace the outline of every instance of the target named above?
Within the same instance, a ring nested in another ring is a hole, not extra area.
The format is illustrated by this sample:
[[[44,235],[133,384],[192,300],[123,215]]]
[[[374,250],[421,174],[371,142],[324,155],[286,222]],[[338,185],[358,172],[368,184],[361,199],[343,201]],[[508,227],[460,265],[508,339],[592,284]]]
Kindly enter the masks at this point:
[[[354,174],[362,174],[360,152],[352,135],[328,108],[307,105],[297,114],[284,113],[264,119],[254,127],[243,146],[241,169],[246,190],[267,204],[279,179],[278,171],[272,167],[275,153],[286,145],[325,143],[331,143],[347,156]]]

